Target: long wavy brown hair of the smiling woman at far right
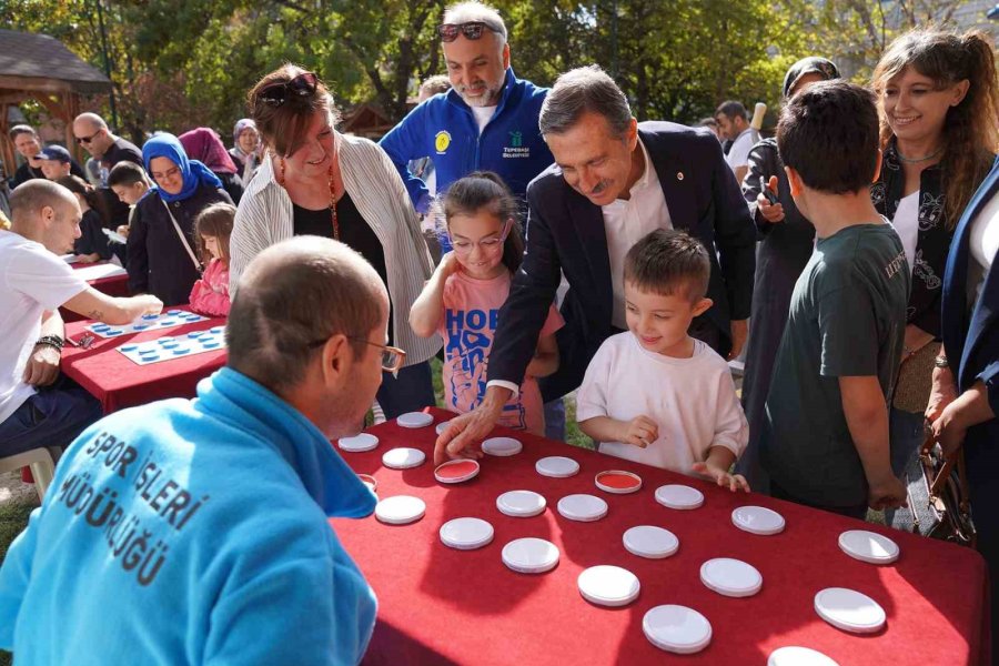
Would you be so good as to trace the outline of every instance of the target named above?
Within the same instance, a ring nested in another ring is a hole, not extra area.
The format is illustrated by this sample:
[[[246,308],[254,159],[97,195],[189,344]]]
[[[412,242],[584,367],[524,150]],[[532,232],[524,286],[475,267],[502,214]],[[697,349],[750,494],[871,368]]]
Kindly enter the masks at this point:
[[[965,79],[968,93],[947,111],[944,123],[946,147],[944,171],[947,228],[952,230],[971,195],[985,179],[999,150],[999,88],[992,46],[979,31],[958,36],[935,28],[912,30],[888,47],[875,68],[871,87],[881,111],[881,142],[894,137],[885,118],[881,95],[891,79],[911,67],[947,88]]]

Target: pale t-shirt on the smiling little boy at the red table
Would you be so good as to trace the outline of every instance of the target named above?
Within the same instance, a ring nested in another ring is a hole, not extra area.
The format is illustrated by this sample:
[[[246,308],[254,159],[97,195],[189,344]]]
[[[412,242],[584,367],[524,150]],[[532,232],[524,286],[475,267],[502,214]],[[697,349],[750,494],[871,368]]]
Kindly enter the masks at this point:
[[[658,440],[646,448],[603,442],[601,453],[696,476],[712,446],[738,457],[749,440],[728,364],[699,340],[689,359],[649,352],[629,331],[604,341],[576,393],[576,420],[642,415],[659,426]]]

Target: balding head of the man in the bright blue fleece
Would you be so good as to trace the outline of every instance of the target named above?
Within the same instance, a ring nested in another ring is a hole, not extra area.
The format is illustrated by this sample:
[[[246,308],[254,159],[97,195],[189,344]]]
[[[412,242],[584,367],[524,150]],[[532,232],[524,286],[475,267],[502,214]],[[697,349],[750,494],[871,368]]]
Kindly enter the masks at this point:
[[[229,365],[280,393],[304,379],[337,333],[363,354],[387,307],[385,285],[364,258],[337,241],[295,236],[243,273],[226,324]]]

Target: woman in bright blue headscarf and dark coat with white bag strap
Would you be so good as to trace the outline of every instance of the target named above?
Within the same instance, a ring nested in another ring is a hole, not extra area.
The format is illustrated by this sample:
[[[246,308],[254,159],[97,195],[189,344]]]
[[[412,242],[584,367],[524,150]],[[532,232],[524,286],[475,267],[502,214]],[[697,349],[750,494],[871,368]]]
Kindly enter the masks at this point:
[[[142,161],[155,186],[135,204],[128,244],[129,289],[133,294],[153,294],[164,305],[184,304],[201,274],[194,219],[209,205],[232,199],[208,167],[188,159],[173,134],[147,141]]]

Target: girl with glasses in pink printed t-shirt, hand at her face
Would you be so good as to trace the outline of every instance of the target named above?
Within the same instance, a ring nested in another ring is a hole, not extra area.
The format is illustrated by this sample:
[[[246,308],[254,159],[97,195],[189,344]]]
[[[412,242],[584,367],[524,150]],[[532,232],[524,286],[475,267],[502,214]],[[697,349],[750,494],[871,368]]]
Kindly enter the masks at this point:
[[[458,414],[471,412],[486,390],[490,350],[511,278],[521,265],[524,241],[517,201],[498,175],[476,171],[455,181],[437,200],[453,251],[445,254],[410,310],[410,325],[421,337],[444,339],[444,403]],[[552,305],[519,392],[503,408],[500,424],[545,434],[545,415],[536,377],[558,367],[555,332],[564,322]]]

